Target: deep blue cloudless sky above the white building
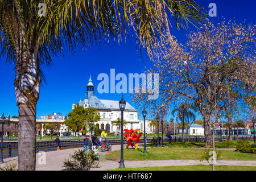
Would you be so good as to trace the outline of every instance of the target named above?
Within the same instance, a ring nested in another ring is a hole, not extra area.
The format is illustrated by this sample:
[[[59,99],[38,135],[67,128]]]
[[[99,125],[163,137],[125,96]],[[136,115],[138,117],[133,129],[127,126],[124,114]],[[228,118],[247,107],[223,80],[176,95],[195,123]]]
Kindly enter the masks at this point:
[[[214,22],[220,22],[223,17],[226,20],[235,17],[236,22],[255,23],[256,1],[196,1],[205,10],[209,11],[209,3],[216,3],[217,17],[209,17]],[[176,36],[179,42],[185,42],[185,34],[195,30],[195,27],[189,25],[189,30],[177,31],[175,26],[172,28],[172,34]],[[115,69],[117,73],[142,73],[149,68],[151,63],[146,51],[143,50],[143,60],[139,59],[135,40],[127,38],[126,42],[118,45],[117,42],[110,41],[108,46],[104,42],[100,46],[93,46],[85,51],[77,48],[76,54],[65,52],[64,56],[53,57],[53,64],[50,67],[44,67],[47,84],[40,88],[40,98],[37,105],[37,117],[50,114],[53,111],[68,114],[71,111],[73,101],[76,103],[83,100],[86,93],[86,84],[89,75],[92,76],[93,84],[96,86],[96,96],[102,99],[120,100],[121,94],[99,94],[97,93],[97,76],[100,73],[110,75],[110,69]],[[5,57],[0,59],[0,113],[18,115],[18,106],[16,106],[14,92],[14,65],[5,62]],[[117,83],[117,81],[116,81]],[[125,100],[130,104],[131,97],[124,94]],[[136,107],[136,106],[135,106]]]

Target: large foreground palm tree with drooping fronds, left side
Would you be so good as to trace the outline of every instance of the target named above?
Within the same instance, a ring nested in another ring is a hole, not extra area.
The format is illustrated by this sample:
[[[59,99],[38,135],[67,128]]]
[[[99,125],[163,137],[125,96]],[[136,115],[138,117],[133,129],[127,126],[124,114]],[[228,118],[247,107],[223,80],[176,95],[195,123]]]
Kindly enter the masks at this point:
[[[16,73],[19,170],[35,170],[36,104],[43,65],[51,64],[51,57],[65,47],[73,52],[102,39],[122,40],[130,29],[152,56],[157,40],[170,35],[167,13],[177,28],[207,20],[203,7],[192,0],[0,0],[1,55],[14,63]]]

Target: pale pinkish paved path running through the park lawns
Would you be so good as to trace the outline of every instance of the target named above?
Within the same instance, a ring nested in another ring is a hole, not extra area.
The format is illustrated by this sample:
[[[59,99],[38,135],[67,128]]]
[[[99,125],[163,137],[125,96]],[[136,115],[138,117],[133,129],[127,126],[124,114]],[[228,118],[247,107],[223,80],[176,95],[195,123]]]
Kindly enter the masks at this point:
[[[112,150],[119,150],[119,145],[112,146]],[[80,148],[82,149],[82,148]],[[42,155],[36,154],[36,171],[61,171],[64,169],[63,162],[68,159],[69,154],[73,154],[77,148],[66,149],[60,151],[50,151],[45,152],[46,164],[42,164]],[[104,152],[108,154],[108,152]],[[4,159],[5,163],[0,164],[1,167],[5,166],[7,162],[18,163],[18,157]],[[139,161],[128,161],[125,160],[125,167],[154,167],[154,166],[187,166],[187,165],[197,165],[197,164],[207,164],[207,161],[200,162],[200,160],[139,160]],[[229,166],[256,166],[256,160],[218,160],[217,165],[229,165]],[[105,162],[100,162],[100,168],[92,168],[92,171],[109,170],[119,167],[118,161],[106,160]]]

